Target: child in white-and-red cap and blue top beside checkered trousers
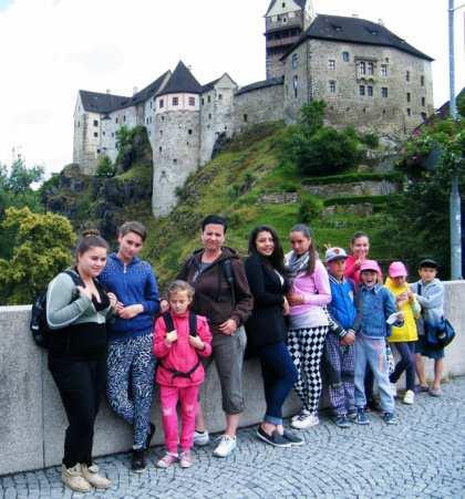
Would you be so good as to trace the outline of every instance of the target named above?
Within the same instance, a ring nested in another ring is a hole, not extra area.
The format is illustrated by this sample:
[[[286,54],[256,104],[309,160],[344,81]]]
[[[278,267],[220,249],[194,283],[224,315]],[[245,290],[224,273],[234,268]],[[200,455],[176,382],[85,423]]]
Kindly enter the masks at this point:
[[[342,248],[329,248],[326,253],[331,285],[331,303],[328,311],[332,319],[324,344],[324,367],[329,378],[329,396],[333,409],[333,422],[340,428],[348,428],[355,417],[352,330],[356,310],[354,305],[354,283],[344,278],[345,259]]]

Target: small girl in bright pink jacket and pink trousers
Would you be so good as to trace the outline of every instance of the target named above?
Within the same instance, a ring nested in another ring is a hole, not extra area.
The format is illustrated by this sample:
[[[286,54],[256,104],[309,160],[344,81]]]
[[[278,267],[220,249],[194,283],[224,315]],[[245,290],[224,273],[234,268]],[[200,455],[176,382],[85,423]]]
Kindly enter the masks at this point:
[[[158,468],[167,468],[177,460],[183,468],[193,465],[195,413],[198,391],[205,378],[200,357],[211,354],[211,333],[207,319],[189,311],[194,289],[184,281],[168,288],[169,312],[155,322],[154,353],[158,358],[155,380],[159,385],[163,430],[166,455]],[[177,403],[180,404],[182,432],[178,455]]]

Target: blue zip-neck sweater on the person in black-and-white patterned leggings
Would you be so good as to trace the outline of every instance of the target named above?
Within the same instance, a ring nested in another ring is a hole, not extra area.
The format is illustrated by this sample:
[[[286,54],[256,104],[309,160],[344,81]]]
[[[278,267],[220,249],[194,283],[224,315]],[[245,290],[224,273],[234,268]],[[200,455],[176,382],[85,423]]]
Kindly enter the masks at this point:
[[[144,306],[144,312],[135,318],[117,318],[110,325],[112,340],[142,336],[153,331],[154,316],[159,310],[159,294],[155,273],[148,262],[136,257],[125,268],[116,253],[111,253],[99,280],[125,306],[137,303]]]

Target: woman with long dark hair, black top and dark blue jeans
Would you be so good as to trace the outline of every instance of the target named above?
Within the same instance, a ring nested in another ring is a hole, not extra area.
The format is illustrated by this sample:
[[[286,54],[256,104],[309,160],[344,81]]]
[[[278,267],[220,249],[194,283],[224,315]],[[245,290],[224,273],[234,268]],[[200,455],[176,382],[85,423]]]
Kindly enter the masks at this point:
[[[301,445],[303,440],[283,429],[282,405],[298,373],[286,345],[285,315],[287,281],[283,251],[276,231],[257,227],[249,238],[246,273],[254,295],[254,311],[246,323],[248,344],[258,356],[264,377],[267,410],[257,436],[277,447]]]

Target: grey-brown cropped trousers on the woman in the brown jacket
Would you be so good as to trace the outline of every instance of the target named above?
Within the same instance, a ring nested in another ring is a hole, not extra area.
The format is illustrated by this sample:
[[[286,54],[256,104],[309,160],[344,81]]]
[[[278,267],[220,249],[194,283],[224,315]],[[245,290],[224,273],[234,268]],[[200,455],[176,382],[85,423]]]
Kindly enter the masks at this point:
[[[240,414],[245,409],[242,366],[247,336],[241,326],[232,335],[215,333],[213,352],[207,366],[214,361],[221,385],[223,410],[228,414]]]

